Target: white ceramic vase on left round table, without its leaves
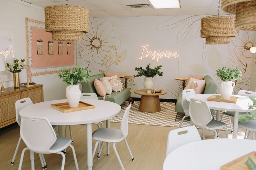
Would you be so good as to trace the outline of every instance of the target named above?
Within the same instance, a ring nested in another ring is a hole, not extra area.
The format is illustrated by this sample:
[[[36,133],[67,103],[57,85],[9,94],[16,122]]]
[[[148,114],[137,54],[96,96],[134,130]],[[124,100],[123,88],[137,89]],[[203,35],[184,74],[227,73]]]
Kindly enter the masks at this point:
[[[66,88],[66,97],[68,99],[69,107],[71,108],[78,107],[80,97],[81,97],[79,84],[68,86]]]

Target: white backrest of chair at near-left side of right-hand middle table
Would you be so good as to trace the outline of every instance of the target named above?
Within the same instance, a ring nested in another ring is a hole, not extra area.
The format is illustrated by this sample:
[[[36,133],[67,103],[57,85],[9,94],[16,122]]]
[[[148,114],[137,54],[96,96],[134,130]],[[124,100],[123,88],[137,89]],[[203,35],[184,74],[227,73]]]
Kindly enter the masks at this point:
[[[206,125],[212,119],[207,103],[193,98],[190,99],[189,114],[193,124],[203,129],[207,129]]]

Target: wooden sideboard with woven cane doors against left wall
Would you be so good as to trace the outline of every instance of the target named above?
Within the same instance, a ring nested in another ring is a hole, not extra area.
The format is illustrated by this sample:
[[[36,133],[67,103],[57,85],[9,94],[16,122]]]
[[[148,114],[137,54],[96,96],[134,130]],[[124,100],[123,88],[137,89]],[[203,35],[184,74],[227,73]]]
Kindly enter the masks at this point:
[[[15,102],[26,97],[30,97],[33,103],[43,102],[43,85],[8,87],[4,92],[0,92],[0,128],[16,122]]]

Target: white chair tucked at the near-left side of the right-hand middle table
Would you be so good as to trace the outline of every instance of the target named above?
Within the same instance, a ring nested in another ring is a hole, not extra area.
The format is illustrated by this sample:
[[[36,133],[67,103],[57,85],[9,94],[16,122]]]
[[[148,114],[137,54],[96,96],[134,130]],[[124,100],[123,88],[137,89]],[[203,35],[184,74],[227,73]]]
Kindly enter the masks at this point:
[[[193,98],[190,99],[189,114],[193,124],[196,127],[199,127],[202,129],[203,139],[205,139],[203,129],[214,131],[214,134],[215,134],[214,138],[217,138],[218,133],[216,130],[221,128],[225,130],[226,137],[228,138],[227,129],[225,128],[227,124],[221,121],[212,119],[211,111],[206,102],[201,100],[196,100]]]

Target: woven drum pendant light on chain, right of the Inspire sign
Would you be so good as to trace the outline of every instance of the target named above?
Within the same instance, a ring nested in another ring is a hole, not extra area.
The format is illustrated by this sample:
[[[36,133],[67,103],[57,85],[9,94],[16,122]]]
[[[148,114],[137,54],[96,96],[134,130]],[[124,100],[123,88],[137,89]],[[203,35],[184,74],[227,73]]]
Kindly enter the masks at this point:
[[[219,2],[220,3],[220,2]],[[235,17],[218,16],[201,19],[201,37],[205,44],[229,44],[235,36]]]

